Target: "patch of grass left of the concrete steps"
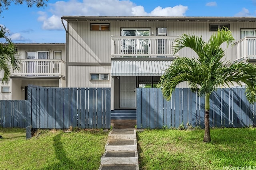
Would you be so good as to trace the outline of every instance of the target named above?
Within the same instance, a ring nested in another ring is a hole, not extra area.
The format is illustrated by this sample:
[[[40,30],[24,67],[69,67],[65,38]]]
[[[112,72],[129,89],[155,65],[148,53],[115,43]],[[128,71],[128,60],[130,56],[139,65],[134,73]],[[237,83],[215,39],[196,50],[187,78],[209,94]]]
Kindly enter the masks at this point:
[[[76,130],[38,130],[26,140],[26,129],[0,128],[0,169],[97,170],[109,132]]]

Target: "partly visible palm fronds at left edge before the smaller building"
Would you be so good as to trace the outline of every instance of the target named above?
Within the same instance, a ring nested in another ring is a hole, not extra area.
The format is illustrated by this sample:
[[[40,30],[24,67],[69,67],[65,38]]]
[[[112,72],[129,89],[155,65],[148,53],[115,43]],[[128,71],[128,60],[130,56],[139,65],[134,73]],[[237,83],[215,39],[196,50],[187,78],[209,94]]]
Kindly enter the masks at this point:
[[[2,83],[8,82],[8,78],[11,74],[11,68],[13,70],[19,70],[19,61],[16,58],[17,51],[12,43],[9,31],[3,25],[0,25],[0,39],[4,39],[4,43],[0,43],[0,71],[4,70],[4,77]]]

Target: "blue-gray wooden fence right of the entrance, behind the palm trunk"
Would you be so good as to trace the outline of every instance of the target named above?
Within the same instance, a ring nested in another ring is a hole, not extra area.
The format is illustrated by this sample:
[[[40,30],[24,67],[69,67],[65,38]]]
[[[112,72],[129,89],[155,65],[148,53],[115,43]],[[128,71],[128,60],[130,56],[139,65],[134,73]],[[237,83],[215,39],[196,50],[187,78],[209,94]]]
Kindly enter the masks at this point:
[[[249,104],[244,88],[219,88],[210,96],[211,127],[256,126],[256,104]],[[176,88],[170,101],[160,88],[137,88],[137,128],[180,125],[204,128],[204,97]]]

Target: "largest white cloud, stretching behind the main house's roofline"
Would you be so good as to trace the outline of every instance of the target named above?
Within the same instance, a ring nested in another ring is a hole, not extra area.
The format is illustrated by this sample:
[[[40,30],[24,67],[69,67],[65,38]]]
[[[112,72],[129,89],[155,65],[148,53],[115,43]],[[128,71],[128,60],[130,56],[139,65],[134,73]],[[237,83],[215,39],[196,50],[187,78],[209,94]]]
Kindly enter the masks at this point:
[[[50,17],[46,12],[38,12],[38,21],[43,23],[43,29],[64,29],[62,16],[185,16],[187,6],[156,7],[151,12],[145,12],[143,6],[137,6],[130,0],[70,0],[57,1],[49,4]]]

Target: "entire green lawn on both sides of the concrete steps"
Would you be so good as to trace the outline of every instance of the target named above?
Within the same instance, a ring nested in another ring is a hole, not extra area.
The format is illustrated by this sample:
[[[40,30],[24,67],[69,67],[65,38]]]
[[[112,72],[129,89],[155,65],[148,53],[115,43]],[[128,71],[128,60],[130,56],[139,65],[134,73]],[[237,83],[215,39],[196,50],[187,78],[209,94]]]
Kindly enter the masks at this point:
[[[0,128],[0,170],[98,170],[108,133],[40,130],[26,140],[26,129]],[[137,132],[140,170],[256,169],[256,128],[211,129],[211,143],[203,136],[203,129]]]

